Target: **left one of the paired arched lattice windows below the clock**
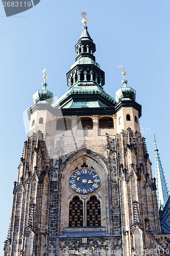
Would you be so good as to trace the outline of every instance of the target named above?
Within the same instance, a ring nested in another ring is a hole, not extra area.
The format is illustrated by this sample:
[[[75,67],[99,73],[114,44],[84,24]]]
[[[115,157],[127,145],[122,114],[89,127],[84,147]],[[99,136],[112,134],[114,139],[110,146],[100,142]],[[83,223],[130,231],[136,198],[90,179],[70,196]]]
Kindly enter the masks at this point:
[[[74,197],[69,203],[69,227],[83,226],[83,203],[79,197]]]

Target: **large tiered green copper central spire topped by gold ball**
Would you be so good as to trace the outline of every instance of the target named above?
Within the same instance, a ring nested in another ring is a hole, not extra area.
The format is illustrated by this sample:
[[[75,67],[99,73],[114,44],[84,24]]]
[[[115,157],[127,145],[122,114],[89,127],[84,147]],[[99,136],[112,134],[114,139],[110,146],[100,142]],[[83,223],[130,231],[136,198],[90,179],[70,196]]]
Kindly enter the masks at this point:
[[[56,108],[100,108],[114,106],[116,101],[105,93],[105,72],[95,61],[95,44],[90,37],[84,18],[83,32],[75,46],[76,62],[67,73],[68,92],[53,105]]]

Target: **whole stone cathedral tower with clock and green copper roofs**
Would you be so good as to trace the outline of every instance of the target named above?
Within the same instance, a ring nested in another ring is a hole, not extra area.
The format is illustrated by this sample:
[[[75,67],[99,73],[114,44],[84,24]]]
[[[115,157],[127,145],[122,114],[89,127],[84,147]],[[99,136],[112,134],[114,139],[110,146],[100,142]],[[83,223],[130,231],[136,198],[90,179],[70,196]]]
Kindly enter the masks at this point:
[[[116,100],[104,91],[83,23],[68,91],[53,104],[44,75],[33,95],[4,255],[163,255],[141,105],[125,72]]]

